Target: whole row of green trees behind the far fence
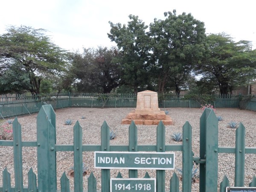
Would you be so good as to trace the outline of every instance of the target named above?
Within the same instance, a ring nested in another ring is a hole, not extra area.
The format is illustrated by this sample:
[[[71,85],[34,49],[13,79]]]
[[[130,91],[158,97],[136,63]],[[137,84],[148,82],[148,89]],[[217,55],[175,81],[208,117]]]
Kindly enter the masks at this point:
[[[0,35],[0,94],[51,92],[232,94],[256,79],[256,50],[224,33],[205,34],[191,14],[165,12],[149,26],[129,15],[107,34],[116,47],[68,52],[44,29],[10,26]],[[195,96],[195,95],[192,95]]]

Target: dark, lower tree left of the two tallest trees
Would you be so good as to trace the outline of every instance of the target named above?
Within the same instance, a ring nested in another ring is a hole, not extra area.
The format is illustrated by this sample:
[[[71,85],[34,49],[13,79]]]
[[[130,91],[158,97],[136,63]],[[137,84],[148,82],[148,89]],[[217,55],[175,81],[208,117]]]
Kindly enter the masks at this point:
[[[110,93],[121,84],[122,68],[115,47],[84,49],[73,55],[71,73],[79,91]]]

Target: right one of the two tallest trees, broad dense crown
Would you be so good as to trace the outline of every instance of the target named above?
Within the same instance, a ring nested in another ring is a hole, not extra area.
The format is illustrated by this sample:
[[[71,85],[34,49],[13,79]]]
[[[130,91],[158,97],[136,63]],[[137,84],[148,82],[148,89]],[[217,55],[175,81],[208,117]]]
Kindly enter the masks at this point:
[[[163,93],[166,83],[173,81],[177,96],[183,79],[190,76],[192,67],[203,58],[204,23],[189,13],[176,15],[165,12],[165,20],[154,19],[150,24],[151,49],[158,92]]]

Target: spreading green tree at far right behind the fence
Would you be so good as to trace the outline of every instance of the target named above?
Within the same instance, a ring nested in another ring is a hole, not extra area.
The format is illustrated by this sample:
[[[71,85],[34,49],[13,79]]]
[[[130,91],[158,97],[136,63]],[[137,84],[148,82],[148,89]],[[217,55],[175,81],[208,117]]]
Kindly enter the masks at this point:
[[[225,33],[210,34],[207,55],[197,73],[217,85],[221,95],[232,94],[256,78],[256,51],[251,51],[249,41],[235,42]]]

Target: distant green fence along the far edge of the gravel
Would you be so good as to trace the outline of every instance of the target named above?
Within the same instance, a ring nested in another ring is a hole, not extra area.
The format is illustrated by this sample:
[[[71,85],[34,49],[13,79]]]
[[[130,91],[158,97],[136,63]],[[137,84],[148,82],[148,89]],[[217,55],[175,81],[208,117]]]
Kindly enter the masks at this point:
[[[159,100],[159,108],[200,108],[201,105],[195,100],[183,100],[183,96],[166,96]],[[136,94],[119,94],[109,97],[106,102],[97,94],[68,94],[58,96],[21,96],[0,98],[0,118],[23,116],[38,113],[42,105],[52,105],[52,108],[86,107],[86,108],[136,108]],[[242,108],[256,111],[256,97],[242,96],[216,96],[211,103],[215,108]]]

